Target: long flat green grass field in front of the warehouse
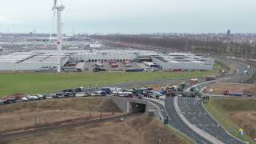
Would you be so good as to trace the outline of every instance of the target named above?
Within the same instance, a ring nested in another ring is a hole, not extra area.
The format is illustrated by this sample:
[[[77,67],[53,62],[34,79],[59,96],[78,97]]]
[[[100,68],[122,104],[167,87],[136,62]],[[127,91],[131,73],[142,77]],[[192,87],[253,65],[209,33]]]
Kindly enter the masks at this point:
[[[195,78],[215,74],[215,71],[155,72],[155,73],[19,73],[0,74],[0,96],[38,94],[78,86],[104,86],[120,82],[150,81],[166,78]]]

